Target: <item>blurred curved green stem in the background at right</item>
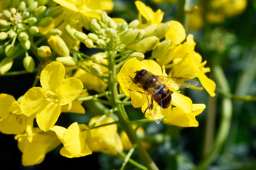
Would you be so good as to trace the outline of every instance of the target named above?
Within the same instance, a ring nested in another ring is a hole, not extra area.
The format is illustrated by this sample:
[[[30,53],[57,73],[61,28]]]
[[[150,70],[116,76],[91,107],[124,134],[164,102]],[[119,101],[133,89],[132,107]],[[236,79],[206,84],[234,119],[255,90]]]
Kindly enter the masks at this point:
[[[213,65],[213,74],[215,76],[217,84],[220,86],[220,89],[222,91],[225,91],[225,93],[229,94],[230,89],[228,86],[228,80],[225,78],[225,74],[220,65]],[[222,106],[220,128],[218,129],[213,149],[211,150],[210,154],[208,154],[205,159],[202,160],[202,162],[198,165],[196,169],[206,169],[208,165],[210,165],[218,156],[220,149],[223,147],[223,144],[228,137],[228,132],[230,130],[230,120],[232,116],[232,100],[223,96],[221,103]]]

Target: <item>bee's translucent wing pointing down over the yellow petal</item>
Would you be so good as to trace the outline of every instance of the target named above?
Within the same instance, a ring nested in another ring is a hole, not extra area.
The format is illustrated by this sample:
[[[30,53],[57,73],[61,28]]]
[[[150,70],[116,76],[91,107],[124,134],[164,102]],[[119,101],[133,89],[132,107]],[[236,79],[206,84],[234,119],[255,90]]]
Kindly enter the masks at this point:
[[[159,95],[159,104],[158,104],[156,103],[156,101],[153,100],[151,95],[149,95],[146,91],[144,91],[144,93],[146,94],[146,101],[148,103],[148,108],[146,108],[146,110],[144,111],[144,114],[147,114],[147,111],[149,111],[151,118],[153,118],[155,123],[159,124],[161,122],[161,118],[163,115],[161,96]]]

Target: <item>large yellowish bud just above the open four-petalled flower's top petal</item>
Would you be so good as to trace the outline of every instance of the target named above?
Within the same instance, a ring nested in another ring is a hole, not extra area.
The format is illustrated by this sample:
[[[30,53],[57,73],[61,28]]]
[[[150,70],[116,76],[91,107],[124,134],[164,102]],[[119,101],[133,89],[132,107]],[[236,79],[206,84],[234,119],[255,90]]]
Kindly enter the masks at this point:
[[[68,46],[65,44],[63,39],[60,38],[59,35],[50,35],[48,39],[48,44],[53,50],[60,56],[69,56],[70,52],[68,50]]]

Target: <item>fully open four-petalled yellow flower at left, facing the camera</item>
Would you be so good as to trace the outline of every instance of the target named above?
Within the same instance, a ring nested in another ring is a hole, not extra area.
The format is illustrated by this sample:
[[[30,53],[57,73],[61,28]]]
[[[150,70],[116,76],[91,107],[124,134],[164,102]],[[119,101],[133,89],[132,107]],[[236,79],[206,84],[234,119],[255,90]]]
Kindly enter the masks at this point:
[[[75,77],[63,80],[65,68],[60,62],[51,62],[41,72],[42,87],[32,87],[24,94],[21,111],[26,116],[36,114],[41,130],[47,131],[58,120],[61,106],[71,103],[82,92],[82,82]]]

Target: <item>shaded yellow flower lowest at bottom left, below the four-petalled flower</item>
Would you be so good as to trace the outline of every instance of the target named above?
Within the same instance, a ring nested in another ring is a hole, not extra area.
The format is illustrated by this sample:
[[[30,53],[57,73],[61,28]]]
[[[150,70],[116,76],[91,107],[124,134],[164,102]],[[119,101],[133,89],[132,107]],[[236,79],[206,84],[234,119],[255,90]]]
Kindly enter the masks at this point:
[[[32,141],[27,134],[16,135],[18,149],[22,152],[23,166],[40,164],[46,154],[60,145],[60,141],[54,132],[43,132],[39,128],[33,128]]]

